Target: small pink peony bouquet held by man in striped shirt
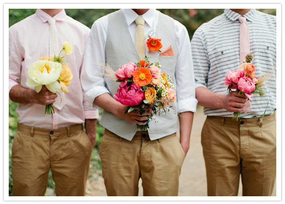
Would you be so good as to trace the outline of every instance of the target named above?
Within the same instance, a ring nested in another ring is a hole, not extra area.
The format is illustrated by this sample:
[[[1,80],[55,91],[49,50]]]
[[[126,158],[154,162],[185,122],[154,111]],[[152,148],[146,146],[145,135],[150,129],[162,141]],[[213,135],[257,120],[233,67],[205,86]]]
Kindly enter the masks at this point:
[[[250,63],[253,60],[252,54],[247,54],[245,61],[239,66],[239,69],[229,71],[226,75],[226,80],[223,83],[228,86],[228,92],[231,94],[232,89],[235,89],[239,95],[245,96],[251,101],[253,94],[264,95],[265,89],[263,88],[263,82],[267,80],[269,75],[262,75],[257,78],[255,73],[255,66]],[[249,110],[249,109],[248,109]],[[248,110],[244,110],[247,112]],[[265,110],[266,112],[266,110]],[[265,112],[263,116],[265,115]],[[240,118],[240,112],[234,112],[233,119],[238,120]],[[262,117],[263,119],[263,117]]]

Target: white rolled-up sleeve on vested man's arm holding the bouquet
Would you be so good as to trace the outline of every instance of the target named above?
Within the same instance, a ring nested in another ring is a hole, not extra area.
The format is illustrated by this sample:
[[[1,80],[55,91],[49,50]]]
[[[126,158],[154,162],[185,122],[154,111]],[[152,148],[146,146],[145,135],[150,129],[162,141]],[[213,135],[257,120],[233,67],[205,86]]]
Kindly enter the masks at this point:
[[[92,25],[87,40],[81,74],[81,83],[85,92],[85,99],[93,108],[100,108],[94,103],[97,96],[109,93],[105,87],[104,79],[102,75],[100,75],[100,73],[104,72],[103,65],[105,64],[106,24],[108,24],[108,18],[104,16],[95,21]]]

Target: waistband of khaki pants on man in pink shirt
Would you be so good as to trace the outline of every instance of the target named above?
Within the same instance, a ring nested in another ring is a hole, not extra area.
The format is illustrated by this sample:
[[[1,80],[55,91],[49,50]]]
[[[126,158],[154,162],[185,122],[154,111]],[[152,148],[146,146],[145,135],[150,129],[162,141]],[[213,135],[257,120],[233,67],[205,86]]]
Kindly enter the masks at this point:
[[[45,128],[40,128],[40,127],[34,127],[34,126],[27,126],[18,123],[17,125],[17,130],[20,132],[25,132],[25,133],[31,133],[32,137],[34,135],[65,135],[69,137],[71,133],[73,132],[78,132],[80,130],[83,130],[83,125],[82,124],[76,124],[68,127],[62,127],[59,129],[45,129]]]

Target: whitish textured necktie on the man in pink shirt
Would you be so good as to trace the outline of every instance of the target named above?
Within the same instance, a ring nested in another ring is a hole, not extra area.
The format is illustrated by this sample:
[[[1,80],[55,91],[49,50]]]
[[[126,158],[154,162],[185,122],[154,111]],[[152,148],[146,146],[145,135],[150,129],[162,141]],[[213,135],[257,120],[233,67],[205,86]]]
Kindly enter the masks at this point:
[[[50,24],[49,28],[49,40],[50,40],[50,57],[53,57],[54,54],[58,54],[59,46],[58,46],[58,35],[57,35],[57,29],[55,26],[55,19],[50,18],[48,20]],[[53,106],[57,108],[58,110],[61,110],[64,105],[66,104],[65,101],[65,94],[61,90],[59,90],[59,94],[57,94],[57,97],[55,99],[55,102],[53,103]]]

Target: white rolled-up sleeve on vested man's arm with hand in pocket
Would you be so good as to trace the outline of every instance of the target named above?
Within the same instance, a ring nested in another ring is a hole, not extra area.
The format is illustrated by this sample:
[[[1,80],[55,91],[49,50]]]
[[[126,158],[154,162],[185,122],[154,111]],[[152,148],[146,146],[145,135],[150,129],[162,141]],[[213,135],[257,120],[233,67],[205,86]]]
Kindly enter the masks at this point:
[[[175,21],[174,25],[179,49],[175,66],[178,112],[196,112],[198,101],[195,97],[194,68],[189,35],[181,23]]]

